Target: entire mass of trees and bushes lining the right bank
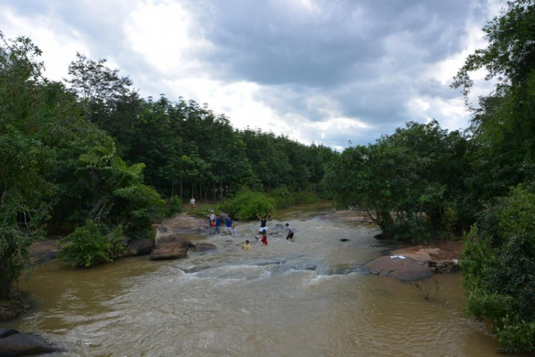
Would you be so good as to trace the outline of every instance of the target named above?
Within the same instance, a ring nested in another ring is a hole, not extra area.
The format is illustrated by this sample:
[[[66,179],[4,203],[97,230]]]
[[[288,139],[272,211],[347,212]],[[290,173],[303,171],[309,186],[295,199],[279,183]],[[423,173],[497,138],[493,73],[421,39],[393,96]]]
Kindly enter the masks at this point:
[[[507,1],[485,26],[452,86],[474,114],[465,133],[408,123],[346,149],[325,183],[385,236],[422,241],[466,234],[468,312],[489,321],[502,352],[535,350],[535,1]],[[469,103],[470,74],[494,91]]]

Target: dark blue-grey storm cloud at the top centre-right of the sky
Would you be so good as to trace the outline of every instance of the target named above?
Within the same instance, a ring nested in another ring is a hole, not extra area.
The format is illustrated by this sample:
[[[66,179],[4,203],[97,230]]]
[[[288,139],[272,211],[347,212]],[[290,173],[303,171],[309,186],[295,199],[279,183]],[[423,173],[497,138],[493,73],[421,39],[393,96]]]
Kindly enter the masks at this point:
[[[465,21],[478,11],[465,0],[315,1],[318,11],[300,1],[197,4],[198,24],[215,44],[199,55],[216,64],[218,76],[305,86],[350,81],[355,67],[392,54],[399,69],[415,57],[423,63],[444,59],[459,51]],[[392,48],[397,41],[399,48]]]

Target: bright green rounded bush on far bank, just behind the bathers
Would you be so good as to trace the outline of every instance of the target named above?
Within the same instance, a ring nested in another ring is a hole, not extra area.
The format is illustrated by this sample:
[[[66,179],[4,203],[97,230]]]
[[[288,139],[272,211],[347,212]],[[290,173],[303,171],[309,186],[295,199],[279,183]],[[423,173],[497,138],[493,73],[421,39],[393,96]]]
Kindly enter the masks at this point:
[[[220,209],[229,216],[246,221],[257,218],[257,214],[265,216],[275,209],[275,202],[265,193],[253,192],[243,188],[235,198],[220,205]]]

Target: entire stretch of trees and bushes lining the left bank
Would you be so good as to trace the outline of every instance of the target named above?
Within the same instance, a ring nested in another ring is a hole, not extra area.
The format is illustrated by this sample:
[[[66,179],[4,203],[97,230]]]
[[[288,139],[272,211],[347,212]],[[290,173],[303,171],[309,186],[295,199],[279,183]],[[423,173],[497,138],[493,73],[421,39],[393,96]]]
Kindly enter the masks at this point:
[[[78,54],[64,83],[49,81],[40,55],[0,32],[0,298],[16,295],[28,248],[47,229],[78,227],[66,254],[91,266],[117,256],[121,236],[150,236],[192,195],[318,193],[337,155],[234,129],[206,104],[143,99],[105,60]]]

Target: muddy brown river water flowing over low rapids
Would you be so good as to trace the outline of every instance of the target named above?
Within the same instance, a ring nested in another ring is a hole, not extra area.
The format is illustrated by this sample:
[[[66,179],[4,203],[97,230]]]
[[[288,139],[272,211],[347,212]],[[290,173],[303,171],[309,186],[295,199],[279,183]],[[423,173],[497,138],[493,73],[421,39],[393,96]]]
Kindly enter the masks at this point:
[[[141,256],[88,270],[49,261],[21,280],[33,308],[0,327],[37,332],[68,350],[61,356],[496,354],[486,326],[463,315],[458,273],[436,276],[432,301],[369,275],[362,266],[394,246],[373,238],[374,228],[328,218],[332,211],[277,211],[268,246],[251,239],[258,222],[249,222],[232,238],[188,234],[218,249],[182,260]]]

